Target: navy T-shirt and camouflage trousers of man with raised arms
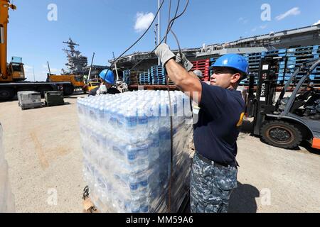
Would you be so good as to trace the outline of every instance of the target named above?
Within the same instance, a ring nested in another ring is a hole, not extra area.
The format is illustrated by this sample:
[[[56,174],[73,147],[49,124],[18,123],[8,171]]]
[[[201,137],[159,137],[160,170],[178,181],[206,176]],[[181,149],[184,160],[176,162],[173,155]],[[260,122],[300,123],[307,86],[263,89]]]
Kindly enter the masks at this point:
[[[201,84],[201,110],[194,126],[191,212],[228,212],[230,194],[237,187],[236,141],[245,101],[238,91]]]

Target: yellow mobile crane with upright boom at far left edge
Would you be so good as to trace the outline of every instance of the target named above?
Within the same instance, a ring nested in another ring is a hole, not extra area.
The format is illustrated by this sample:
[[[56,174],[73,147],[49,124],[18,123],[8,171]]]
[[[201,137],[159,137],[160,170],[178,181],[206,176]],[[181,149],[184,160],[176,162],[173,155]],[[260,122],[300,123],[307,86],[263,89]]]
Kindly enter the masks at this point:
[[[41,92],[43,96],[58,87],[70,87],[70,82],[26,82],[22,58],[12,57],[9,64],[6,62],[9,9],[16,10],[16,6],[9,0],[0,0],[0,101],[12,99],[20,91]]]

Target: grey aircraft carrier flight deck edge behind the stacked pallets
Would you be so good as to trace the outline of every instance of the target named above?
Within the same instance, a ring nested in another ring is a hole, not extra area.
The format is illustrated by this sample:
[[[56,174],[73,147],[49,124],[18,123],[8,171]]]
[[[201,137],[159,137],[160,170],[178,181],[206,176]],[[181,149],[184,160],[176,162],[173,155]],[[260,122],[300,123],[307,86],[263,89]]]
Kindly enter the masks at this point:
[[[240,38],[228,43],[201,45],[200,48],[188,48],[181,50],[189,60],[202,60],[210,57],[218,57],[227,53],[250,54],[252,52],[265,52],[283,48],[299,48],[320,44],[320,24],[304,28],[295,28],[286,31],[270,32],[265,35],[257,35],[248,38]],[[178,50],[174,50],[178,52]],[[154,53],[134,52],[120,58],[117,67],[130,70],[137,62],[144,59],[134,70],[143,71],[153,65],[157,65],[157,57]],[[110,64],[114,60],[109,61]]]

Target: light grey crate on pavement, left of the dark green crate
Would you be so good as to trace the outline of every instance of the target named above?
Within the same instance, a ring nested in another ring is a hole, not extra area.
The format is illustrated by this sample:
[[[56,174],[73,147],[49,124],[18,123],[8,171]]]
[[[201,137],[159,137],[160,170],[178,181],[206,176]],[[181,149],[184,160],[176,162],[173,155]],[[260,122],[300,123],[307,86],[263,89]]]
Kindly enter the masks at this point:
[[[41,94],[39,92],[18,92],[18,105],[22,110],[39,108],[41,104]]]

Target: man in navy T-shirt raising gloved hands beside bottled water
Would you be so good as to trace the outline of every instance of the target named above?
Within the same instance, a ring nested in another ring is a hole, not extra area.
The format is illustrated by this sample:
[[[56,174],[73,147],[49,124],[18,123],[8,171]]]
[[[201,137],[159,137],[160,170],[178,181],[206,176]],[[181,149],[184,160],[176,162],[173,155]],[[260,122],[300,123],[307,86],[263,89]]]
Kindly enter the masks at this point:
[[[230,194],[237,187],[237,139],[245,101],[236,89],[247,76],[249,64],[241,55],[220,57],[213,66],[210,85],[194,77],[193,65],[181,57],[181,65],[166,44],[156,49],[177,87],[198,103],[193,140],[196,154],[191,167],[191,212],[228,212]]]

